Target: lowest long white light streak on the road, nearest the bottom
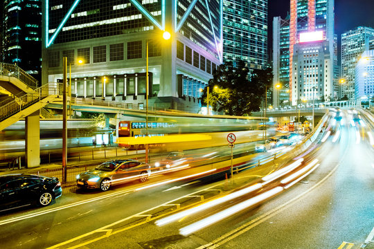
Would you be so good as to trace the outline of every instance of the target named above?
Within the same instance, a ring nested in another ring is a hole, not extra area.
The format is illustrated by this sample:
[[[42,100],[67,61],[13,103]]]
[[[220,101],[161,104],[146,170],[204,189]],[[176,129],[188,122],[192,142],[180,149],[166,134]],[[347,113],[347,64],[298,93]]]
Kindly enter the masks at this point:
[[[186,227],[179,229],[179,233],[184,236],[192,234],[193,232],[201,230],[202,228],[206,228],[208,225],[212,225],[217,221],[221,221],[222,219],[225,219],[237,212],[249,208],[252,205],[256,205],[261,201],[265,201],[266,199],[269,199],[271,196],[274,196],[282,191],[283,187],[274,187],[274,189],[272,190],[269,190],[263,194],[259,194],[258,196],[254,196],[251,199],[248,199],[247,201],[243,201],[242,203],[233,205],[231,208],[227,208],[226,210],[218,212],[217,214],[213,214],[212,216],[208,216],[205,219],[187,225]]]

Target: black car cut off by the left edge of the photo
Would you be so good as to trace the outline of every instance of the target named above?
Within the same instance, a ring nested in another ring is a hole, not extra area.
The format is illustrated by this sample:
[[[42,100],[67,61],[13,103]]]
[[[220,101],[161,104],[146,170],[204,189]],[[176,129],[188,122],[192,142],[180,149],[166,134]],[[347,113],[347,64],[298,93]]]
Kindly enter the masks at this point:
[[[49,205],[62,194],[56,177],[31,174],[0,176],[0,210],[12,210],[26,205]]]

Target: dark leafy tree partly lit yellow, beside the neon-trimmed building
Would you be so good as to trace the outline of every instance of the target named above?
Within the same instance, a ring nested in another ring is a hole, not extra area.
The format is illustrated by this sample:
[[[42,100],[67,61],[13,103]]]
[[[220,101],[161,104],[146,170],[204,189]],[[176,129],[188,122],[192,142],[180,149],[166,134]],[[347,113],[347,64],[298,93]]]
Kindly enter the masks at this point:
[[[255,69],[250,73],[245,62],[226,62],[218,66],[209,80],[209,105],[214,111],[223,111],[233,116],[251,115],[252,111],[260,111],[265,100],[265,89],[269,91],[273,75],[271,68]],[[207,88],[201,100],[206,104]]]

